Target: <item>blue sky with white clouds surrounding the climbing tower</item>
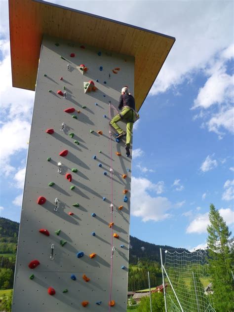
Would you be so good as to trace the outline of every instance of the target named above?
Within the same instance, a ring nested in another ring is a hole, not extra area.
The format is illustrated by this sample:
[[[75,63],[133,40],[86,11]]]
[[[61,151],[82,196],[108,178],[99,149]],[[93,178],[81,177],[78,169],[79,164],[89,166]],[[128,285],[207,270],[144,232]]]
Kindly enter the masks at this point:
[[[233,1],[51,2],[176,37],[134,126],[130,234],[203,247],[211,202],[233,231]],[[34,92],[11,86],[0,12],[0,216],[20,221]]]

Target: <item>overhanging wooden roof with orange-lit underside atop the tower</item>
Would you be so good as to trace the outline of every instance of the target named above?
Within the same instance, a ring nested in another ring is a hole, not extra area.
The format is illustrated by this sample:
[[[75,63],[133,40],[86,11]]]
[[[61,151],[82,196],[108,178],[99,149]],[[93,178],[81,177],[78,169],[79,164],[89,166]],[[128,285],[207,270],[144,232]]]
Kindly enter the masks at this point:
[[[12,85],[35,90],[43,34],[135,57],[142,106],[175,38],[42,0],[9,0]]]

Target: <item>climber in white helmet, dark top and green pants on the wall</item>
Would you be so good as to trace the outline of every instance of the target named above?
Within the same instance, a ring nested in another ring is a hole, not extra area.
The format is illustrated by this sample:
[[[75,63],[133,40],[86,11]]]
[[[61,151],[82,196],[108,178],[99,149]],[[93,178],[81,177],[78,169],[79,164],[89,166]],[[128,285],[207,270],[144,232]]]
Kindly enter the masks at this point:
[[[112,118],[110,124],[113,128],[118,132],[117,139],[120,139],[124,136],[126,137],[126,155],[130,155],[130,141],[132,137],[132,128],[133,123],[139,118],[138,113],[135,112],[135,100],[134,97],[130,94],[128,86],[124,86],[121,90],[121,95],[119,98],[119,105],[118,105],[119,113]],[[118,125],[118,121],[125,121],[126,131],[122,130]]]

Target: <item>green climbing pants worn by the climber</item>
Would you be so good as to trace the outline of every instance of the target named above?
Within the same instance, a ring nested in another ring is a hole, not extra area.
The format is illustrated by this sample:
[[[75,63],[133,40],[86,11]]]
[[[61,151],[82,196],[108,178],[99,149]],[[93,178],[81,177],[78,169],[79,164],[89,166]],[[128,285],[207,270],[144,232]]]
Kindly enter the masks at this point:
[[[113,128],[116,129],[118,134],[123,133],[123,129],[121,129],[118,125],[118,121],[124,121],[126,122],[126,132],[127,132],[127,137],[126,137],[126,144],[130,145],[131,138],[132,138],[132,128],[133,128],[133,111],[131,110],[130,107],[125,106],[119,112],[115,117],[112,118],[110,124],[113,126]]]

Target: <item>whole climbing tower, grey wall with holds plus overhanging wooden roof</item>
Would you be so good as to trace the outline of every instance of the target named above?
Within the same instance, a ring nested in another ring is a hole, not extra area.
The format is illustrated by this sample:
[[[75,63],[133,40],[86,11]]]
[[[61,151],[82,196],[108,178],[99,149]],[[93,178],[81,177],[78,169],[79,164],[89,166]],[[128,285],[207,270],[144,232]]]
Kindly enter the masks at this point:
[[[13,86],[35,90],[12,312],[126,311],[131,156],[109,121],[175,39],[44,1],[9,15]]]

